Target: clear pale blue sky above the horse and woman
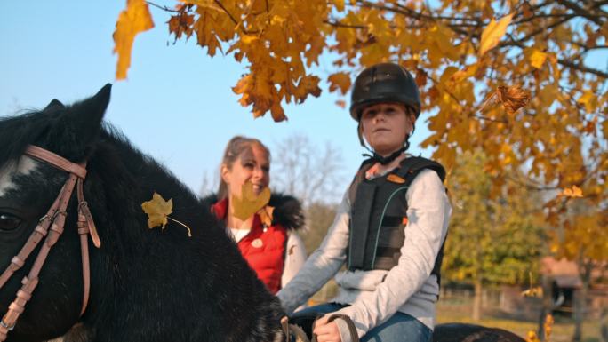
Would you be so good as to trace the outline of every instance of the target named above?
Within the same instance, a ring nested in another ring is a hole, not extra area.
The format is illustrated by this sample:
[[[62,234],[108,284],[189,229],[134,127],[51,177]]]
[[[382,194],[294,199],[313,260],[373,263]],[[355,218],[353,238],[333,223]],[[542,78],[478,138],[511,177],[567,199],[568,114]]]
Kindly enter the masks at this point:
[[[307,135],[320,148],[330,142],[341,150],[347,187],[365,151],[356,123],[335,105],[338,97],[326,84],[321,98],[286,107],[287,122],[274,123],[269,114],[253,119],[231,91],[243,65],[232,56],[208,57],[194,40],[173,45],[164,24],[168,16],[154,8],[156,28],[136,38],[128,80],[116,82],[112,33],[124,5],[100,0],[0,3],[0,115],[44,107],[53,98],[70,103],[109,82],[114,86],[108,122],[196,192],[205,172],[212,178],[226,142],[236,134],[259,138],[271,149],[293,134]],[[329,63],[321,60],[320,69]],[[427,134],[420,127],[412,146]]]

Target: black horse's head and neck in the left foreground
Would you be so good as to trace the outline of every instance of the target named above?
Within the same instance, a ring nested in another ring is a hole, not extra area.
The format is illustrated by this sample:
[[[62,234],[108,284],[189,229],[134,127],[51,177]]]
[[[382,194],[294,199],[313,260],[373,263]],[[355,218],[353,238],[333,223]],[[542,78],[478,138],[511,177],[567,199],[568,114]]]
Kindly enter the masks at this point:
[[[42,111],[0,120],[0,272],[68,179],[68,172],[25,156],[30,145],[74,163],[88,161],[84,198],[101,241],[100,249],[89,246],[91,295],[81,316],[83,271],[72,198],[65,231],[7,341],[56,338],[75,325],[66,342],[282,340],[280,303],[204,203],[101,122],[109,98],[107,85],[72,106],[53,100]],[[163,230],[148,229],[140,205],[154,192],[172,198],[171,217],[191,227],[192,237],[172,221]],[[35,256],[0,291],[0,314]]]

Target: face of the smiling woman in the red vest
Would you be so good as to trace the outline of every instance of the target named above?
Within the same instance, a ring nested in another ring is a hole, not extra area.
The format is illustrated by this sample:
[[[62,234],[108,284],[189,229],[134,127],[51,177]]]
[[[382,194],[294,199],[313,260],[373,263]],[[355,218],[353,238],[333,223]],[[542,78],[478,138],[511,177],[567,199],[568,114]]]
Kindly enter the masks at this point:
[[[253,192],[259,195],[270,183],[270,162],[266,150],[253,144],[239,155],[231,168],[222,165],[221,177],[228,185],[230,195],[240,197],[241,188],[248,180],[253,184]]]

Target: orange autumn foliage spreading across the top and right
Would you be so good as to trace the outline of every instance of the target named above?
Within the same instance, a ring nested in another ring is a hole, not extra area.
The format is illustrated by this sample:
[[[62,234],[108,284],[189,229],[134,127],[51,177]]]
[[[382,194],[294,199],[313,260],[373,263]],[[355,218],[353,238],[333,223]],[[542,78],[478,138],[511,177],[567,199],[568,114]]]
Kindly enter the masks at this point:
[[[544,191],[553,251],[606,260],[608,72],[587,60],[606,48],[601,2],[431,3],[189,0],[167,8],[128,0],[116,24],[116,76],[126,76],[133,36],[153,26],[150,8],[170,14],[176,40],[246,64],[233,91],[256,117],[284,120],[283,104],[319,96],[321,77],[346,95],[362,68],[396,61],[433,113],[422,147],[434,147],[448,171],[457,155],[481,148],[489,196],[506,182]],[[328,75],[316,75],[320,58],[331,61]]]

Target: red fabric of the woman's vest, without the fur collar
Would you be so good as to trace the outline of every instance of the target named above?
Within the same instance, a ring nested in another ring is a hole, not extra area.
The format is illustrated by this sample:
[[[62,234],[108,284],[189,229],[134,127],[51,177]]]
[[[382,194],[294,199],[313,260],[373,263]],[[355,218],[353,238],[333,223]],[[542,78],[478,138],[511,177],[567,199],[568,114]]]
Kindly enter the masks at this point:
[[[218,219],[226,219],[228,199],[213,204],[212,212]],[[268,290],[273,294],[281,290],[285,245],[287,244],[285,228],[278,223],[267,227],[261,223],[260,216],[256,214],[252,230],[237,244],[249,266],[266,284]]]

